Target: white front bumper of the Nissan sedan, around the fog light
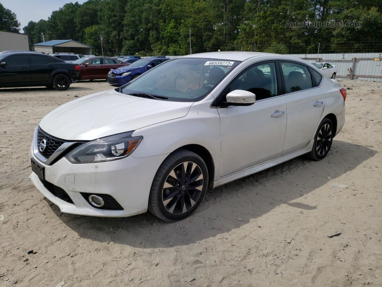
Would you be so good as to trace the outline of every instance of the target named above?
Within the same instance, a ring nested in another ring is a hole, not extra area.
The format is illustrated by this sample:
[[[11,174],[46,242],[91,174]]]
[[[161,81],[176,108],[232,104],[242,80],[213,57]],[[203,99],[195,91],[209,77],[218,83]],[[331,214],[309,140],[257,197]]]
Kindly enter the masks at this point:
[[[36,173],[30,179],[36,188],[56,204],[62,212],[102,217],[126,217],[147,211],[152,180],[166,155],[134,158],[129,155],[120,160],[104,163],[70,163],[65,157],[53,165],[45,165],[31,148],[30,157],[45,168],[45,180],[64,189],[73,204],[53,195]],[[123,210],[93,207],[80,192],[109,194]]]

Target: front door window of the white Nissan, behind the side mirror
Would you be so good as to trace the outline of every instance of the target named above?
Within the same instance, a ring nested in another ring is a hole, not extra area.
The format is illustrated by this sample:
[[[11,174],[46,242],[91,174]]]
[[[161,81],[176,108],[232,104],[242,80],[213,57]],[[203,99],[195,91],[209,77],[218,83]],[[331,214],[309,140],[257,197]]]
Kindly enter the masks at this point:
[[[256,101],[277,96],[275,63],[255,65],[245,70],[231,83],[230,91],[245,90],[256,95]]]

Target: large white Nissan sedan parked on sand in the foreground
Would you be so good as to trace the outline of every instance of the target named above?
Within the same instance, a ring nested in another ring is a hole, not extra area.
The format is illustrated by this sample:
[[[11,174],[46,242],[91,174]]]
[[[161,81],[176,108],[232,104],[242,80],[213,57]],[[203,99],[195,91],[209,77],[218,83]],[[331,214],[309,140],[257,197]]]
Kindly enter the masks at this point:
[[[345,98],[295,57],[187,55],[47,114],[30,178],[62,212],[181,220],[208,188],[300,155],[322,160],[344,125]]]

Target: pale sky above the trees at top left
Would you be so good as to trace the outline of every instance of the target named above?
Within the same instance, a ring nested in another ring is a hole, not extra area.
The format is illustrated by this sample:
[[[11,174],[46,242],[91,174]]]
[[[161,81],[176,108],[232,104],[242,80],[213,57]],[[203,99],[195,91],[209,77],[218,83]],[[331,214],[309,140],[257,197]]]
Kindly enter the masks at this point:
[[[82,4],[86,0],[77,0]],[[52,11],[58,10],[65,3],[75,3],[76,1],[68,0],[0,0],[0,3],[7,9],[16,13],[17,20],[20,22],[20,32],[29,21],[39,21],[40,19],[48,20]]]

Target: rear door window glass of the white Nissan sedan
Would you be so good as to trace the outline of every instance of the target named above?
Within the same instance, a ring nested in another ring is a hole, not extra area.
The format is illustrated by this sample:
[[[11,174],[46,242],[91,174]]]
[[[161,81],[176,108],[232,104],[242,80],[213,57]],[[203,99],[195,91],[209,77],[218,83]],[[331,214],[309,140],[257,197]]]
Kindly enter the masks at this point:
[[[281,62],[286,93],[312,88],[312,78],[308,67],[296,63]]]

